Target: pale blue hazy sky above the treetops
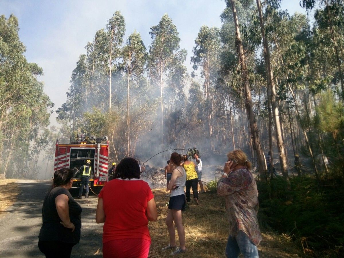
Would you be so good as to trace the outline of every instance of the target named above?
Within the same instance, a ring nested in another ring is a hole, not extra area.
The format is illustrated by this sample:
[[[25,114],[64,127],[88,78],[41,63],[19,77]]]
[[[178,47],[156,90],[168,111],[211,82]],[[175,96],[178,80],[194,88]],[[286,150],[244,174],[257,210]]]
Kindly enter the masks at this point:
[[[80,54],[85,54],[87,42],[97,30],[106,27],[107,20],[120,11],[126,21],[126,34],[134,30],[141,34],[147,49],[151,43],[149,31],[168,13],[176,25],[181,49],[186,49],[187,71],[191,73],[190,57],[194,40],[202,25],[221,27],[220,14],[224,0],[1,0],[0,15],[14,14],[19,20],[19,37],[26,46],[28,62],[43,68],[44,91],[55,104],[54,110],[66,101],[72,71]],[[282,0],[281,8],[305,13],[299,0]],[[57,125],[56,114],[51,125]]]

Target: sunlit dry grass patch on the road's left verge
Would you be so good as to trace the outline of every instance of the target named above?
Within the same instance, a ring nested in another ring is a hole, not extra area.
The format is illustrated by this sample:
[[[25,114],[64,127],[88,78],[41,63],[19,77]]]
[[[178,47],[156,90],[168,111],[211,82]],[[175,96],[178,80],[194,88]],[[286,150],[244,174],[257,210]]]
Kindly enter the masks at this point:
[[[15,179],[0,180],[0,216],[17,200],[19,189]]]

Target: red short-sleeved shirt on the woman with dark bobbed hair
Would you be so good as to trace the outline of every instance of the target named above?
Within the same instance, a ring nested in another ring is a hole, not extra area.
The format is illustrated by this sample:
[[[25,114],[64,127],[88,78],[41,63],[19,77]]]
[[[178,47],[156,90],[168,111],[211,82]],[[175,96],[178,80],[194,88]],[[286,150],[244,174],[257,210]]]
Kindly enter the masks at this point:
[[[151,241],[146,217],[147,202],[154,198],[148,183],[113,179],[99,193],[103,198],[105,223],[103,243],[124,238]]]

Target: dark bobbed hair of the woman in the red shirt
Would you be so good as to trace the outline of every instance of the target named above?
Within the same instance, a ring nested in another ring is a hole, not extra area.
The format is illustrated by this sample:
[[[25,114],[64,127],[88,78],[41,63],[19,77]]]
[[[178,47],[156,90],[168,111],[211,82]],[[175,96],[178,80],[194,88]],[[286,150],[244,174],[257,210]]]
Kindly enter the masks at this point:
[[[124,158],[116,166],[114,178],[132,179],[140,178],[140,167],[136,159]]]

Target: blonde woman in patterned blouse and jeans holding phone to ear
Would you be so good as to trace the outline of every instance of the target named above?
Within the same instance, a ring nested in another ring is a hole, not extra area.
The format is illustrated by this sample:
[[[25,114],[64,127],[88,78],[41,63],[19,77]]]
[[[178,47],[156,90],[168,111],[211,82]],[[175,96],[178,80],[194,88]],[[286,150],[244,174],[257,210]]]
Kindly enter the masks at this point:
[[[251,163],[241,150],[227,154],[222,177],[217,182],[217,194],[225,197],[229,222],[226,257],[257,258],[261,240],[257,212],[258,191],[256,181],[249,171]]]

